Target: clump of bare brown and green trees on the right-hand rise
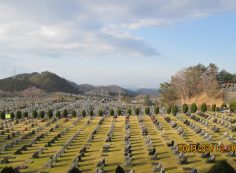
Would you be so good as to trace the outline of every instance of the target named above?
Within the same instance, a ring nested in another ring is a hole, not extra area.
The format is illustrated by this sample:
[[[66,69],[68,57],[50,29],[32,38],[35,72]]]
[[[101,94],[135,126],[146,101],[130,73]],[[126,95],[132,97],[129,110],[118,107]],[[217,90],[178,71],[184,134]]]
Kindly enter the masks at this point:
[[[214,97],[220,90],[220,84],[227,82],[236,83],[236,75],[224,69],[219,72],[219,67],[213,63],[190,66],[171,76],[170,82],[160,84],[161,102],[165,106],[173,106],[203,92]]]

